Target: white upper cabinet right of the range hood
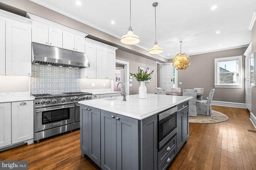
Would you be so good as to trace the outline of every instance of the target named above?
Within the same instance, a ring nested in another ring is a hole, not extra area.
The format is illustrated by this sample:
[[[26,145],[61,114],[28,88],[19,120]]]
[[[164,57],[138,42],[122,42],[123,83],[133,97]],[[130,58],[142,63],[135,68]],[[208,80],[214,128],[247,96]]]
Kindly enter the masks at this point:
[[[81,69],[81,78],[115,79],[117,48],[88,38],[85,47],[90,67]]]

